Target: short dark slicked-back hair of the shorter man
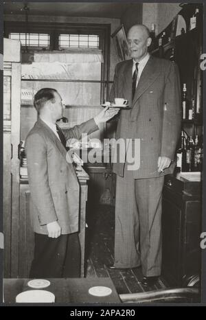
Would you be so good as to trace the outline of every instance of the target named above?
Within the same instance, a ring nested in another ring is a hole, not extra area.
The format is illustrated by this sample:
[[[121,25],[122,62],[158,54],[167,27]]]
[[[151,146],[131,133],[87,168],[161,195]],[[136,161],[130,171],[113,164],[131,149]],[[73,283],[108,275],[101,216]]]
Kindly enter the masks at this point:
[[[41,111],[41,108],[43,108],[43,106],[45,105],[45,102],[49,100],[55,102],[54,93],[58,93],[58,91],[52,88],[43,88],[36,92],[36,95],[34,95],[34,106],[38,113]]]

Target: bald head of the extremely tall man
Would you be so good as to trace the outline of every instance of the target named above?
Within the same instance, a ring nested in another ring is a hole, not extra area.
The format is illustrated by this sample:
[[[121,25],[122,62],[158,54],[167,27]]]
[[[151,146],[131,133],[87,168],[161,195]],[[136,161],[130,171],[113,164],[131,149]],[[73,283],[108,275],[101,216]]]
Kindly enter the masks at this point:
[[[148,46],[151,42],[146,30],[141,26],[131,27],[127,38],[130,57],[135,61],[140,61],[148,53]]]

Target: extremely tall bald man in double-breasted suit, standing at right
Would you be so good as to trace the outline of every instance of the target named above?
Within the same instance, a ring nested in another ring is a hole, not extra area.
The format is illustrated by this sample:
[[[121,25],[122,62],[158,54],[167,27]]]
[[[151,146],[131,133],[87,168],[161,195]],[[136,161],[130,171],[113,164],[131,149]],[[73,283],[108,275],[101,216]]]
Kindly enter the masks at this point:
[[[181,127],[181,93],[176,64],[148,54],[151,38],[145,25],[128,31],[131,60],[119,62],[110,100],[125,98],[116,138],[139,139],[139,169],[128,161],[114,163],[117,174],[115,203],[115,264],[110,268],[141,265],[142,284],[150,286],[161,274],[161,198],[164,175],[175,167]]]

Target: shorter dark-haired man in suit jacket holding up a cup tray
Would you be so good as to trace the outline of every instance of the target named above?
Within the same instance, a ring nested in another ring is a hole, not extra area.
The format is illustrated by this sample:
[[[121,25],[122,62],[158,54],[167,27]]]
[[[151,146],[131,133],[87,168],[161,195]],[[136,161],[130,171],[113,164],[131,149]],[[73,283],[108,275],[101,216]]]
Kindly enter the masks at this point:
[[[98,130],[118,111],[104,108],[87,122],[65,130],[56,126],[64,105],[55,89],[34,96],[39,118],[25,141],[30,183],[30,214],[34,229],[34,260],[30,277],[79,277],[79,183],[66,141]]]

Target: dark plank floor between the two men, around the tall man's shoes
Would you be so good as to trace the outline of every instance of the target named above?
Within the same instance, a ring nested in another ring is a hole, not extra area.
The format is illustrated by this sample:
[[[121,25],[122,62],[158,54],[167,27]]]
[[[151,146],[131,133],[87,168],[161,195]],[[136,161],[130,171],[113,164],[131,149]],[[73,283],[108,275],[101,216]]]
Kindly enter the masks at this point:
[[[118,294],[141,293],[168,287],[162,277],[150,288],[141,286],[141,267],[126,271],[108,271],[106,264],[114,262],[114,207],[98,205],[88,212],[87,217],[86,277],[111,277]]]

